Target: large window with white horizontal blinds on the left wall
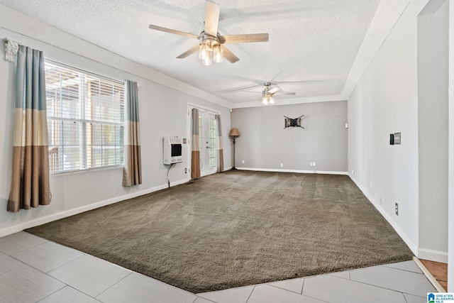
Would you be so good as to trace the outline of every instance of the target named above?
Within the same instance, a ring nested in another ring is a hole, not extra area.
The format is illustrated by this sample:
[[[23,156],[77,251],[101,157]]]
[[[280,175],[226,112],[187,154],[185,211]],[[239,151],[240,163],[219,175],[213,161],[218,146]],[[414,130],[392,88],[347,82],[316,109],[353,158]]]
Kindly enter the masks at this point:
[[[50,172],[123,165],[124,83],[45,62]]]

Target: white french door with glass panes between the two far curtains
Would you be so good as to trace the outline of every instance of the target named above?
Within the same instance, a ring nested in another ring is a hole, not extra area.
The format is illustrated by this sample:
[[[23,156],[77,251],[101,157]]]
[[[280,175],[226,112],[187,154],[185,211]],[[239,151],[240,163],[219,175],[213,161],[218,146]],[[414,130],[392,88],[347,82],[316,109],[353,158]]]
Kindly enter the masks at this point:
[[[216,119],[214,113],[199,109],[199,150],[201,177],[216,172]]]

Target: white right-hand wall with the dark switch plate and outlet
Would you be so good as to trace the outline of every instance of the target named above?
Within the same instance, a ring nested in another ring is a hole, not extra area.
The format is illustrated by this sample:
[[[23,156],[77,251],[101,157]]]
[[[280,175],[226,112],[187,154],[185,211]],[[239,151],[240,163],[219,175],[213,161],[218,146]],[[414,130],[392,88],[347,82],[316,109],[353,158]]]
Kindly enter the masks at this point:
[[[410,2],[348,99],[348,170],[416,255],[446,261],[447,228],[425,224],[424,233],[434,238],[426,241],[431,248],[421,246],[419,233],[426,214],[419,212],[417,21],[427,3]],[[396,132],[402,145],[389,145],[389,134]]]

